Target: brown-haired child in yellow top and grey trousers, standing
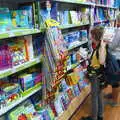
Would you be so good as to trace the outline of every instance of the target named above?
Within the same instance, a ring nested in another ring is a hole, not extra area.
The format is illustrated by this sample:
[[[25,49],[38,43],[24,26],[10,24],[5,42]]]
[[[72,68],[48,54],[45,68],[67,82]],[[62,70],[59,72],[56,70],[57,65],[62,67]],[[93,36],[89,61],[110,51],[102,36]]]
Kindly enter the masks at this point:
[[[91,40],[96,48],[91,55],[88,67],[88,76],[91,82],[91,117],[83,120],[103,120],[103,94],[101,89],[101,80],[99,77],[103,74],[106,60],[106,42],[102,39],[104,27],[96,26],[91,31]],[[103,78],[104,79],[104,78]]]

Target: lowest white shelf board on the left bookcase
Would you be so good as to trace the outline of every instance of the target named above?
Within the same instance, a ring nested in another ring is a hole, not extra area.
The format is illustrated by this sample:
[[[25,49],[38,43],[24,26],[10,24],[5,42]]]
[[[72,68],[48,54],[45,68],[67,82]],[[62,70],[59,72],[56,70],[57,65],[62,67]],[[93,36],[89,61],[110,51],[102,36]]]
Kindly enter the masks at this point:
[[[0,109],[0,116],[2,116],[3,114],[7,113],[8,111],[10,111],[12,108],[14,108],[15,106],[19,105],[20,103],[22,103],[24,100],[28,99],[30,96],[34,95],[36,92],[38,92],[39,90],[41,90],[41,87],[38,87],[37,89],[33,90],[29,95],[24,96],[19,98],[18,100],[14,101],[13,103],[11,103],[11,105],[8,105],[7,107],[1,108]]]

